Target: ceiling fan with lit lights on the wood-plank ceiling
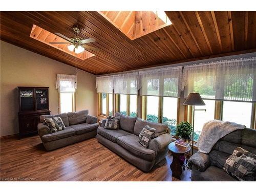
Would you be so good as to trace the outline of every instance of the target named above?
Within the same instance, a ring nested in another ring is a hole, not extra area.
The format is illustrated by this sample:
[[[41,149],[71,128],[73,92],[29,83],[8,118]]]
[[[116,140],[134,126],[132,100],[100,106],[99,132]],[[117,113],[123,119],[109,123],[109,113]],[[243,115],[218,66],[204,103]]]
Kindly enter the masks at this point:
[[[65,35],[62,35],[60,33],[54,33],[55,35],[58,35],[59,37],[69,41],[69,42],[50,42],[50,44],[70,44],[68,46],[68,49],[70,51],[75,51],[76,54],[79,54],[83,52],[84,50],[93,50],[98,51],[99,49],[91,47],[89,45],[89,42],[95,42],[96,40],[94,38],[88,38],[88,39],[80,39],[80,37],[77,36],[77,34],[80,32],[80,29],[75,26],[73,27],[74,32],[76,33],[75,37],[66,37]]]

